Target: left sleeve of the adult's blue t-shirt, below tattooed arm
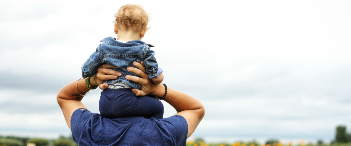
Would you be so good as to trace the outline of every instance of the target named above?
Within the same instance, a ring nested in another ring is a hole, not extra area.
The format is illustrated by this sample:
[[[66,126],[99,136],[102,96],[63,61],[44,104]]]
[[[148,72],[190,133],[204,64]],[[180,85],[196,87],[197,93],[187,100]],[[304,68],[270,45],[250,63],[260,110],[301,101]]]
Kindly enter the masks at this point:
[[[71,131],[73,140],[77,144],[80,142],[80,138],[85,130],[86,123],[94,114],[95,113],[83,108],[77,109],[73,112],[71,117]]]

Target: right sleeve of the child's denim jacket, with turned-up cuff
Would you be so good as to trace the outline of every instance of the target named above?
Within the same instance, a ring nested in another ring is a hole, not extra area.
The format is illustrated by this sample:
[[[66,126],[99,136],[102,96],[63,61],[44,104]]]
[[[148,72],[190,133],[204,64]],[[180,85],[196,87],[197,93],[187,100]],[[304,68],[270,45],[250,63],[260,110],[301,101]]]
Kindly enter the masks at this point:
[[[146,58],[144,60],[146,73],[150,79],[157,78],[160,73],[163,72],[161,68],[158,67],[157,61],[155,59],[155,52],[149,48],[146,50]]]

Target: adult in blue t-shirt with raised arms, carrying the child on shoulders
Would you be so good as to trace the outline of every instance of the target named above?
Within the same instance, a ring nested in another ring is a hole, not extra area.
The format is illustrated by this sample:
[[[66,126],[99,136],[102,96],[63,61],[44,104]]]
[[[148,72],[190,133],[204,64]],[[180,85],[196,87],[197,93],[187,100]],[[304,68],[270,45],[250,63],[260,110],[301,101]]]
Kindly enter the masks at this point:
[[[145,117],[104,118],[99,114],[88,111],[81,102],[89,89],[84,80],[73,81],[63,87],[57,101],[65,116],[72,136],[79,145],[185,145],[186,138],[196,129],[205,115],[204,106],[195,98],[168,88],[162,84],[155,84],[148,78],[142,64],[134,62],[134,67],[127,70],[138,74],[141,78],[127,75],[126,79],[137,82],[141,90],[132,89],[137,96],[155,95],[163,97],[178,112],[176,115],[164,119],[147,119]],[[100,65],[96,74],[96,82],[100,89],[106,89],[107,84],[102,81],[117,79],[120,72],[108,69],[118,68],[110,65]],[[91,86],[98,86],[93,78],[89,80]],[[79,91],[79,92],[78,92]]]

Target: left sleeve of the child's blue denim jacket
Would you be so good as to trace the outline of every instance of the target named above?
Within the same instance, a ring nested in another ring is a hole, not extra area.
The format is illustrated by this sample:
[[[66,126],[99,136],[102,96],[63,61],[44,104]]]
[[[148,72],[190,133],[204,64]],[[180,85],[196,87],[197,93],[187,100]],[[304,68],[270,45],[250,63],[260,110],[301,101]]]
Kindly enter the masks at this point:
[[[98,48],[96,48],[96,51],[93,54],[91,54],[88,60],[84,63],[84,66],[82,66],[83,78],[92,77],[94,74],[98,73],[98,67],[101,64],[99,57],[99,46]]]

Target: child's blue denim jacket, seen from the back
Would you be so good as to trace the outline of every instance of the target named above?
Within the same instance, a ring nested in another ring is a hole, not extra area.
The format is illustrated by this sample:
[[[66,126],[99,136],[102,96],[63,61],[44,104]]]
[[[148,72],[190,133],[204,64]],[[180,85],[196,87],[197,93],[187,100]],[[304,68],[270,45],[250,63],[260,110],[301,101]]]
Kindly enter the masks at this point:
[[[127,71],[127,67],[135,67],[133,61],[140,63],[144,61],[145,69],[150,79],[157,78],[162,69],[158,67],[156,59],[154,57],[155,52],[150,49],[154,47],[151,44],[146,44],[143,41],[133,40],[126,43],[118,42],[112,37],[107,37],[101,40],[101,43],[96,48],[96,51],[91,54],[90,58],[82,65],[83,77],[92,77],[97,73],[100,64],[108,64],[112,66],[118,66],[119,68],[111,68],[115,71],[122,73],[115,80],[107,80],[104,83],[112,84],[123,82],[129,86],[129,88],[140,89],[140,84],[127,80],[126,75],[139,75]]]

